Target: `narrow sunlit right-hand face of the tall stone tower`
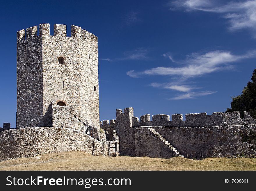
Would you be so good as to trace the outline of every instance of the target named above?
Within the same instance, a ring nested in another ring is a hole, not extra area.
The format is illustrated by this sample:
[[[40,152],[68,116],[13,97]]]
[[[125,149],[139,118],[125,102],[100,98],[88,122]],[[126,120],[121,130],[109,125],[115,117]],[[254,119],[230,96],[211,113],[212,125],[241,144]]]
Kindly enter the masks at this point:
[[[80,102],[83,106],[81,115],[92,119],[94,126],[99,130],[98,38],[84,29],[79,37],[83,39],[80,41],[80,81],[83,82],[80,88]]]

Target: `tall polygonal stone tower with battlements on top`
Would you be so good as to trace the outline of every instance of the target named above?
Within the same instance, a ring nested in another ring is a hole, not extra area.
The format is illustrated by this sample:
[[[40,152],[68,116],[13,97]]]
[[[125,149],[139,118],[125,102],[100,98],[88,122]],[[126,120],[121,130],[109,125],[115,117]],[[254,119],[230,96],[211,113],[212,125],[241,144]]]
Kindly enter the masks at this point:
[[[25,35],[26,33],[26,35]],[[98,40],[66,25],[40,24],[17,32],[17,128],[79,129],[92,120],[99,135]],[[79,119],[81,121],[79,121]]]

